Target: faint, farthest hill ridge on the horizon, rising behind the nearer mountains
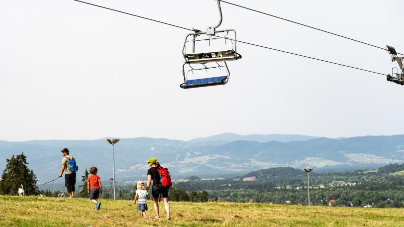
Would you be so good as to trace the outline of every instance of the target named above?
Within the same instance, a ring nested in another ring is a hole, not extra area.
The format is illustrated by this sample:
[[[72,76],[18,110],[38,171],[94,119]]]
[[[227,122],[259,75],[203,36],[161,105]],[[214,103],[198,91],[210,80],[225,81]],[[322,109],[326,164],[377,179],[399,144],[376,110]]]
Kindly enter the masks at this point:
[[[247,141],[256,141],[256,142],[270,142],[270,141],[278,141],[278,142],[290,142],[290,141],[305,141],[310,139],[315,139],[318,137],[308,136],[308,135],[285,135],[285,134],[250,134],[250,135],[239,135],[234,133],[222,133],[218,135],[212,135],[208,137],[200,137],[196,139],[189,140],[189,143],[203,143],[203,142],[213,142],[213,141],[223,141],[223,142],[232,142],[237,140],[247,140]]]

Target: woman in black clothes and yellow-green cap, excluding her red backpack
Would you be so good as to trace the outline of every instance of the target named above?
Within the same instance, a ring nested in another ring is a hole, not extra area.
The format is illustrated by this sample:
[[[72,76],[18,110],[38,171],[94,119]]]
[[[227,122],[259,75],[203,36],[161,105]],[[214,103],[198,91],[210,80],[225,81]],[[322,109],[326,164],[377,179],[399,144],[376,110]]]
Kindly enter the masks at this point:
[[[159,196],[163,199],[164,208],[167,212],[167,219],[171,220],[170,217],[170,206],[168,205],[168,192],[170,190],[170,186],[163,187],[160,183],[160,174],[159,174],[159,167],[160,164],[157,162],[156,158],[150,158],[147,160],[147,163],[150,166],[150,169],[147,170],[147,187],[146,191],[149,191],[151,182],[153,181],[152,186],[152,195],[153,195],[153,205],[154,205],[154,212],[156,213],[156,219],[160,218],[160,211],[159,211]]]

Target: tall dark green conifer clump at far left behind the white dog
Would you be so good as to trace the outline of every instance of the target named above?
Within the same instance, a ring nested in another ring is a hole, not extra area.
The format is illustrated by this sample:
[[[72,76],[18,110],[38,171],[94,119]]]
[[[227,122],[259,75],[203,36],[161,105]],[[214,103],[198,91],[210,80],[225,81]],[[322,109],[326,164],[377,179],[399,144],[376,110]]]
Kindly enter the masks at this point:
[[[38,195],[37,180],[34,171],[28,169],[27,157],[21,153],[6,159],[6,166],[1,175],[0,195],[17,195],[23,185],[26,195]]]

